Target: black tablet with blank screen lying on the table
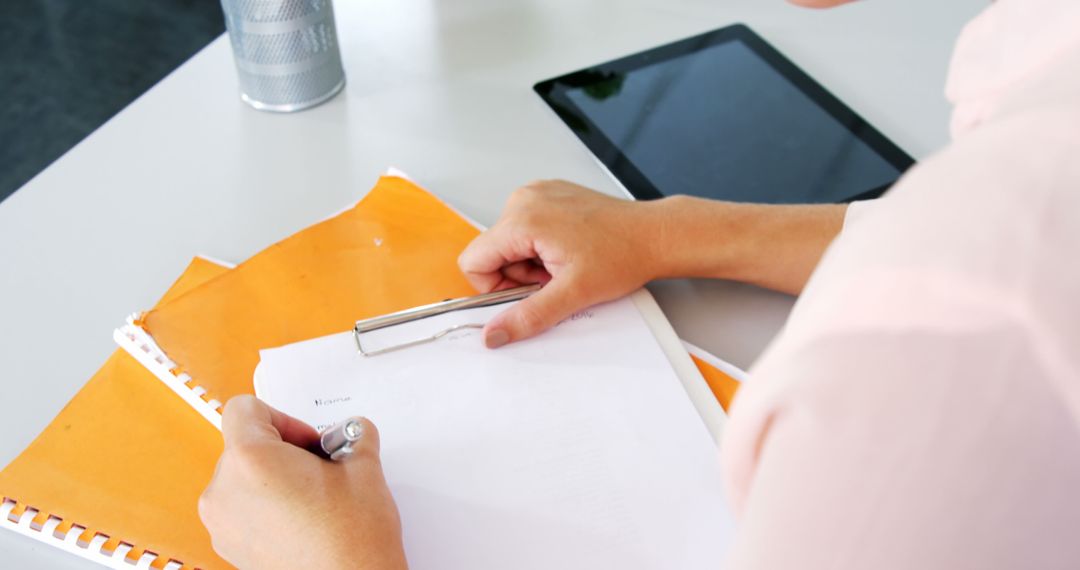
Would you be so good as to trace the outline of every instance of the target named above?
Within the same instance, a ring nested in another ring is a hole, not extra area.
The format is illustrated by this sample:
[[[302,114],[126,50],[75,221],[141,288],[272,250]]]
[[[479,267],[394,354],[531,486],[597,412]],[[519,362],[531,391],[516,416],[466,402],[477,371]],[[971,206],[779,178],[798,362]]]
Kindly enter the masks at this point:
[[[850,202],[880,195],[914,163],[744,25],[535,90],[640,200]]]

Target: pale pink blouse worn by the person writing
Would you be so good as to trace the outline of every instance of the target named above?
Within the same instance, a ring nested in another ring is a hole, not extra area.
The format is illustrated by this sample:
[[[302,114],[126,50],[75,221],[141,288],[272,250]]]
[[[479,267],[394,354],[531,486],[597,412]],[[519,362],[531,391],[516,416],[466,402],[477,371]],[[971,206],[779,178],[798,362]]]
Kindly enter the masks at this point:
[[[995,2],[946,92],[735,398],[731,568],[1080,569],[1080,0]]]

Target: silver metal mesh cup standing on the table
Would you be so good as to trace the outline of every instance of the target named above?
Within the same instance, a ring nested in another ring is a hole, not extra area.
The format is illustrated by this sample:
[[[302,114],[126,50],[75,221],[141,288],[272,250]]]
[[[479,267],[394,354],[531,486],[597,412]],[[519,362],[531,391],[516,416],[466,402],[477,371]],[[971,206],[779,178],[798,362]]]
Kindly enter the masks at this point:
[[[330,0],[221,0],[240,76],[240,98],[292,112],[345,86]]]

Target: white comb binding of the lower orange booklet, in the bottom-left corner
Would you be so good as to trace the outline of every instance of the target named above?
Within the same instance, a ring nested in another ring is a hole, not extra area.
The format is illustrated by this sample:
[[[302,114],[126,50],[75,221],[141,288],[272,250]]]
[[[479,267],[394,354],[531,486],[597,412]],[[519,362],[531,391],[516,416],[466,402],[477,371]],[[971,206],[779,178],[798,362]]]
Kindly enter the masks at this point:
[[[159,558],[157,553],[149,551],[144,551],[137,560],[129,558],[129,555],[135,549],[132,544],[119,542],[114,548],[108,549],[111,546],[108,534],[95,531],[90,540],[83,540],[86,527],[71,525],[66,531],[63,531],[60,527],[64,519],[49,515],[43,521],[39,521],[41,513],[37,508],[26,506],[22,513],[15,515],[17,507],[17,501],[9,497],[3,498],[2,503],[0,503],[0,528],[29,537],[85,560],[118,570],[149,570]],[[179,570],[183,567],[184,562],[171,558],[164,566],[157,568]]]

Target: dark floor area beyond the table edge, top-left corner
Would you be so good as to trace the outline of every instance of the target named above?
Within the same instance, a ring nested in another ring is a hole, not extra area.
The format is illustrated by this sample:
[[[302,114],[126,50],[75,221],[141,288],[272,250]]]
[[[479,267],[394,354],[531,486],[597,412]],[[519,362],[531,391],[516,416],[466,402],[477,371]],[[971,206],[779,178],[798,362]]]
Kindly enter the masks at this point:
[[[0,201],[224,31],[219,0],[0,0]]]

